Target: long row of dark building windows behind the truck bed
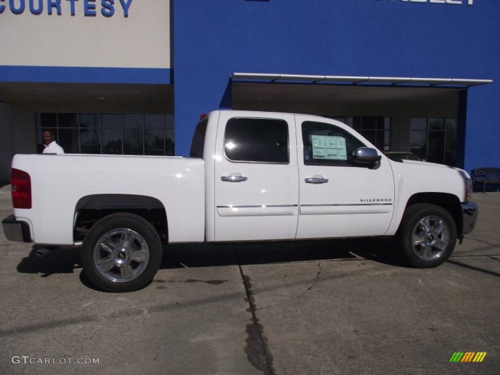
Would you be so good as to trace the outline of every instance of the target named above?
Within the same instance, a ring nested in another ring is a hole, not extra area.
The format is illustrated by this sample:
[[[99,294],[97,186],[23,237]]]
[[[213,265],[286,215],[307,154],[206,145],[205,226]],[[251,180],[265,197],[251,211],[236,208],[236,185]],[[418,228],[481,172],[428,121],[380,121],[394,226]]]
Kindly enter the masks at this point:
[[[36,113],[39,152],[45,128],[53,130],[66,153],[174,154],[172,114]]]

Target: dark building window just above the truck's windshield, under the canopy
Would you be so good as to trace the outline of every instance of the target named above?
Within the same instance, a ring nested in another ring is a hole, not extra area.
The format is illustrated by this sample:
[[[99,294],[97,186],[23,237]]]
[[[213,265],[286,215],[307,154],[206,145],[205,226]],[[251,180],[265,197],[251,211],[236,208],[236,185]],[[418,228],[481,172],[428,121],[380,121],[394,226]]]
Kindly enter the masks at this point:
[[[328,116],[343,122],[382,151],[390,149],[390,117],[388,116]]]

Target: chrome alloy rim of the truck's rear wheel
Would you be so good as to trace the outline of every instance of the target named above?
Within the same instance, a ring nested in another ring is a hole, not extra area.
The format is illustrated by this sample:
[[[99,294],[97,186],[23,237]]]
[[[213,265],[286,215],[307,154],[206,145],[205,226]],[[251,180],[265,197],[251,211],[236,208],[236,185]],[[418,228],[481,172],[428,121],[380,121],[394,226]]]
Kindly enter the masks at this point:
[[[136,231],[127,228],[113,229],[97,240],[93,260],[97,272],[108,280],[129,281],[146,268],[149,247]]]

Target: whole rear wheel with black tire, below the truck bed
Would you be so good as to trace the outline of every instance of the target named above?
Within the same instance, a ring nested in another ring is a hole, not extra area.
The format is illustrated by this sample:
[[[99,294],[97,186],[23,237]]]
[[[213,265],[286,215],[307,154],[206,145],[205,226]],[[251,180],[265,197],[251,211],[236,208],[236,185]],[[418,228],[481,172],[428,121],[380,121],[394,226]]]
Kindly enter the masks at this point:
[[[133,213],[113,213],[95,222],[83,240],[83,272],[98,288],[127,292],[148,285],[161,263],[154,227]]]

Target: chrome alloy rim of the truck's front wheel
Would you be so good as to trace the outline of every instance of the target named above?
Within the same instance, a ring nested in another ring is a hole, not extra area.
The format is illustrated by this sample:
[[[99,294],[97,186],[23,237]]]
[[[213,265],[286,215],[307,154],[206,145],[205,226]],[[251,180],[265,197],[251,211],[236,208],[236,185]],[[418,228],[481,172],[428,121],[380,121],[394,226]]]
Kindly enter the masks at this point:
[[[420,259],[432,260],[441,256],[450,241],[449,228],[438,216],[426,216],[415,225],[411,235],[413,252]]]

